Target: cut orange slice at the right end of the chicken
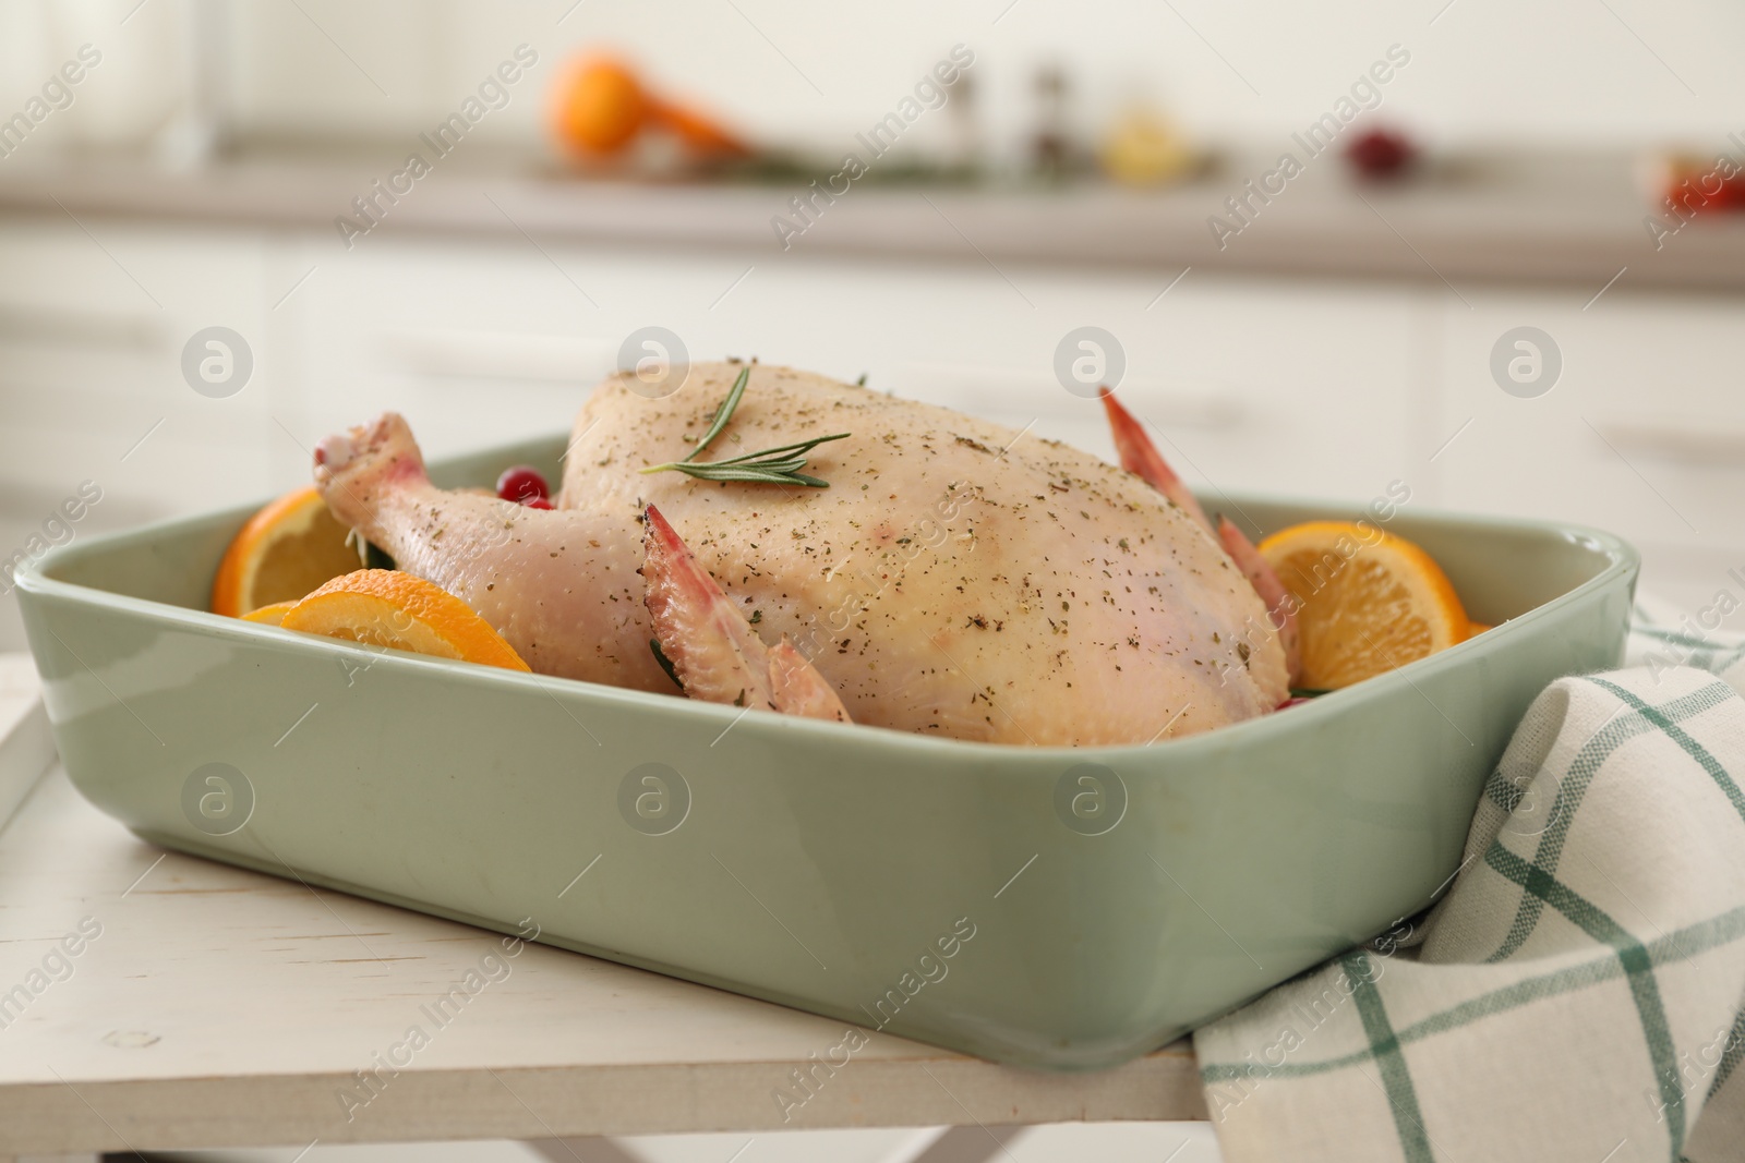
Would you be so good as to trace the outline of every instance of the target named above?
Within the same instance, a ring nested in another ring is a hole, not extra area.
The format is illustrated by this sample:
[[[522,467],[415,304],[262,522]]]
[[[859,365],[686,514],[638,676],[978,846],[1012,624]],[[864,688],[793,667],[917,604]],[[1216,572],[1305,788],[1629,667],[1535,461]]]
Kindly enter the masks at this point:
[[[1349,687],[1471,633],[1441,567],[1373,525],[1293,525],[1260,542],[1260,554],[1298,602],[1302,687]]]

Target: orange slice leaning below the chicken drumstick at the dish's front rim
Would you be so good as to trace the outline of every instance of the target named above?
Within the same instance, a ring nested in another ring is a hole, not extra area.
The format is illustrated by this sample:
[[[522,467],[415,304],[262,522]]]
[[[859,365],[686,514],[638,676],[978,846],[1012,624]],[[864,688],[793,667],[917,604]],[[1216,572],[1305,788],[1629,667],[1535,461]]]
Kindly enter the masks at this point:
[[[462,663],[530,670],[473,607],[400,570],[356,570],[335,577],[293,605],[279,626]]]

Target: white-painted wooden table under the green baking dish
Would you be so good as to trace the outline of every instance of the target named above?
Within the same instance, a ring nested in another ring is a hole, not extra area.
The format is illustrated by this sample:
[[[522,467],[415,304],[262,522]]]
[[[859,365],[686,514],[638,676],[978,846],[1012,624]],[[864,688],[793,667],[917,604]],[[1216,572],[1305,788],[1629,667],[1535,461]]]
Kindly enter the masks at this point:
[[[101,933],[58,957],[80,924]],[[525,945],[436,1027],[424,1006],[490,952],[469,926],[166,853],[54,767],[0,832],[0,1160],[454,1139],[588,1160],[607,1135],[942,1125],[979,1160],[1012,1125],[1206,1118],[1185,1043],[1063,1076],[872,1034],[784,1123],[773,1092],[841,1022]],[[412,1025],[428,1044],[359,1088]]]

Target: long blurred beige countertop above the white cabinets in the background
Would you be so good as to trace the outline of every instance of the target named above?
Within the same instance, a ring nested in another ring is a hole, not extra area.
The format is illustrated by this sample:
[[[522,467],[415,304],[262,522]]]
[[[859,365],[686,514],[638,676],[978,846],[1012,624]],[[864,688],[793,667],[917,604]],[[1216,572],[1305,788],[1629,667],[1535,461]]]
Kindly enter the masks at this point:
[[[407,145],[344,152],[239,150],[192,169],[141,159],[26,157],[0,162],[0,213],[122,216],[330,232],[352,199],[400,169]],[[1447,282],[1555,282],[1745,289],[1745,216],[1684,225],[1656,248],[1640,166],[1605,153],[1492,153],[1438,162],[1401,183],[1359,183],[1340,159],[1312,159],[1223,246],[1208,223],[1237,220],[1225,199],[1272,169],[1232,155],[1162,190],[1103,183],[970,187],[853,183],[803,234],[792,183],[653,183],[579,178],[548,160],[468,145],[387,207],[354,244],[510,235],[537,244],[612,244],[784,255],[855,255],[991,263],[1197,267],[1228,272],[1394,277]],[[379,204],[386,204],[380,202]],[[525,242],[524,242],[525,244]]]

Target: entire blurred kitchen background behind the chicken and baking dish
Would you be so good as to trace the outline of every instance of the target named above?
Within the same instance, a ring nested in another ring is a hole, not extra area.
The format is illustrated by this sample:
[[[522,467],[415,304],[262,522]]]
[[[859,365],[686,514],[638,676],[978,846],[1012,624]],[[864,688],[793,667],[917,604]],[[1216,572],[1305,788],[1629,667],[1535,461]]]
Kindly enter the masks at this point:
[[[1742,44],[1724,0],[7,0],[0,551],[384,408],[562,429],[658,326],[1105,453],[1068,371],[1119,375],[1215,493],[1586,521],[1696,610],[1745,595]]]

